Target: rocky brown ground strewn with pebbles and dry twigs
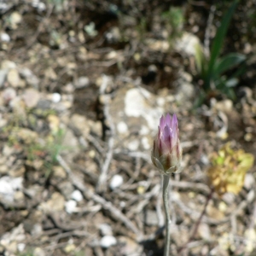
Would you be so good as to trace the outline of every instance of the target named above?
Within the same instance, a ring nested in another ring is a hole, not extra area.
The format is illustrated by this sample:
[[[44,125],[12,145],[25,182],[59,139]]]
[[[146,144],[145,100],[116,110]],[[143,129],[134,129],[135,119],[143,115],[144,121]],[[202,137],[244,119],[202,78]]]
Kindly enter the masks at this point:
[[[212,152],[256,155],[255,4],[238,6],[224,46],[248,57],[236,100],[194,108],[207,1],[0,0],[0,254],[163,255],[150,150],[160,116],[177,113],[172,255],[256,255],[255,166],[238,195],[213,194],[191,236]]]

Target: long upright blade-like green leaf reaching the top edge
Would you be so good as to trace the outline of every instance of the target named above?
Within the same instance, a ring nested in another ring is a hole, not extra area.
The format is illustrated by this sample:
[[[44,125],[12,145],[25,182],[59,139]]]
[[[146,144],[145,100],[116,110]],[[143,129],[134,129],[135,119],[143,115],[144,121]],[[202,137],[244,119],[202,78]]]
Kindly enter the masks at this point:
[[[211,57],[209,61],[209,67],[208,67],[208,76],[206,81],[206,89],[208,90],[210,87],[211,79],[212,79],[212,73],[213,73],[213,67],[215,66],[215,62],[218,59],[218,55],[220,54],[220,50],[222,49],[222,46],[224,44],[224,37],[227,33],[228,26],[230,25],[231,17],[236,9],[236,5],[239,2],[239,0],[235,0],[231,6],[230,9],[228,9],[227,13],[224,15],[223,19],[221,20],[221,24],[218,27],[218,31],[216,33],[216,37],[213,40],[212,48],[211,48]]]

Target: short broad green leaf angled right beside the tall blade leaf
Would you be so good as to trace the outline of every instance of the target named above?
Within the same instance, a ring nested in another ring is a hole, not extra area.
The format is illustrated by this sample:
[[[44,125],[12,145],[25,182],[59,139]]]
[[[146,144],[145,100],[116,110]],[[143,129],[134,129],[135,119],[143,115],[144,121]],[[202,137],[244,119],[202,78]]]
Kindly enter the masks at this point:
[[[216,64],[214,67],[214,76],[216,77],[221,73],[226,72],[230,68],[236,67],[245,59],[246,59],[246,56],[241,55],[239,53],[230,53],[229,55],[225,55],[224,57],[216,61]]]

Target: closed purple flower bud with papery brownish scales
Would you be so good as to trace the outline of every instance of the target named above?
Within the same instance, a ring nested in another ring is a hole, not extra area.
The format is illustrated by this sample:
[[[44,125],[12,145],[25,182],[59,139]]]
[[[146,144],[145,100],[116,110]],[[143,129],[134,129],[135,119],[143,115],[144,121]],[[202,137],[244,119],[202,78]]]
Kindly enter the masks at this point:
[[[160,118],[158,134],[154,138],[151,160],[161,174],[181,172],[183,150],[180,146],[176,114],[166,114]]]

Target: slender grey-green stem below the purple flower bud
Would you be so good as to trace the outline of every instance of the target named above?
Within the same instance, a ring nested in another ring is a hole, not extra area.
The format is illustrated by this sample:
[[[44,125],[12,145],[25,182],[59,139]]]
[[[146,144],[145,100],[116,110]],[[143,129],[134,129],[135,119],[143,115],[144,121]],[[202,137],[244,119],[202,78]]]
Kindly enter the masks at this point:
[[[171,227],[172,221],[169,213],[169,199],[168,199],[169,182],[170,182],[170,176],[163,175],[163,201],[164,201],[164,208],[166,213],[166,239],[165,239],[164,256],[170,255],[170,240],[171,240],[170,227]]]

